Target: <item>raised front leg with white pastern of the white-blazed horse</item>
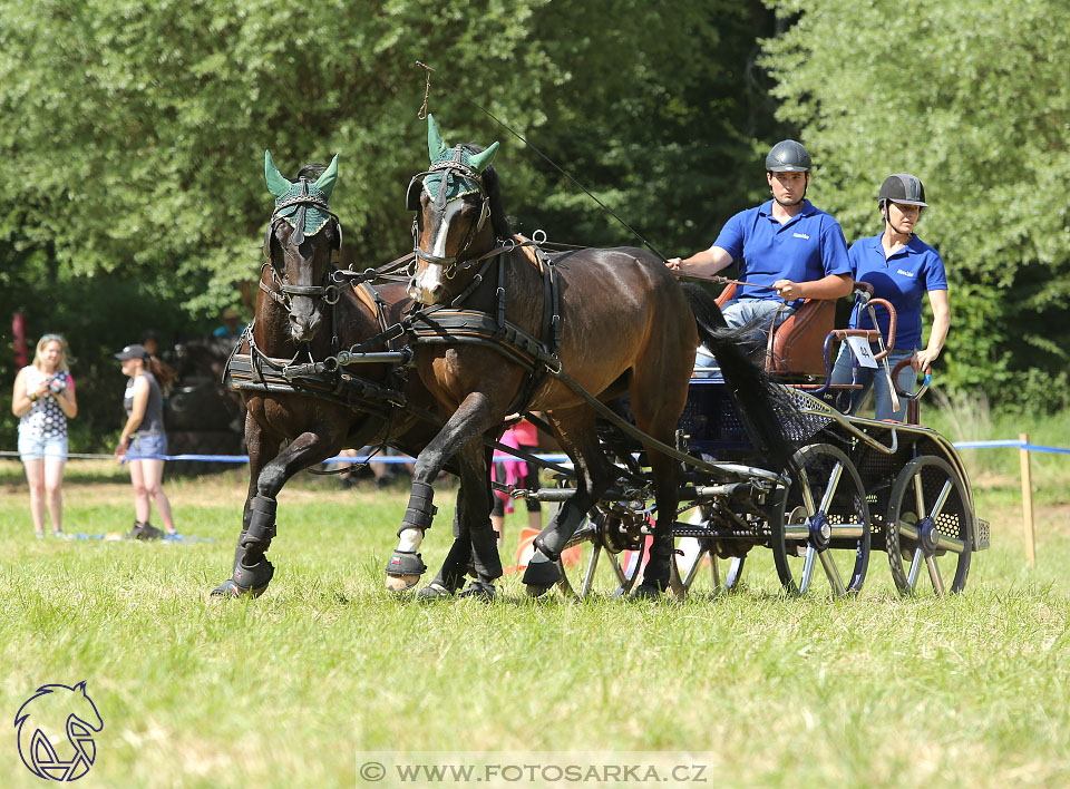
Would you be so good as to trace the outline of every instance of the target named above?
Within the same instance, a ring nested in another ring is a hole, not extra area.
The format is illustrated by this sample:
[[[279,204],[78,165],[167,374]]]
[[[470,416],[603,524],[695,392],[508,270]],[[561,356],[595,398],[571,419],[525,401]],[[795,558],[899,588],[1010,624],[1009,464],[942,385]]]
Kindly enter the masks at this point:
[[[420,575],[427,571],[419,551],[420,544],[424,542],[424,533],[431,527],[431,520],[437,512],[432,504],[435,490],[431,483],[441,471],[442,466],[461,447],[474,439],[481,440],[483,434],[500,421],[500,415],[497,409],[492,408],[489,398],[483,392],[471,392],[446,421],[439,434],[419,454],[412,473],[412,491],[409,494],[409,504],[405,510],[401,527],[398,529],[398,547],[387,562],[386,583],[388,590],[393,592],[410,590],[419,582]],[[478,475],[465,474],[468,466],[469,464],[463,459],[461,488],[468,489],[468,487],[474,486],[474,491],[480,489],[485,491],[486,483],[480,481]],[[486,475],[484,474],[484,476]],[[466,507],[469,506],[470,499],[467,494],[465,501]],[[489,525],[489,499],[487,499],[486,506],[485,517]],[[495,547],[495,552],[497,552],[497,547]],[[489,556],[486,558],[490,561]],[[500,575],[500,572],[498,574]]]

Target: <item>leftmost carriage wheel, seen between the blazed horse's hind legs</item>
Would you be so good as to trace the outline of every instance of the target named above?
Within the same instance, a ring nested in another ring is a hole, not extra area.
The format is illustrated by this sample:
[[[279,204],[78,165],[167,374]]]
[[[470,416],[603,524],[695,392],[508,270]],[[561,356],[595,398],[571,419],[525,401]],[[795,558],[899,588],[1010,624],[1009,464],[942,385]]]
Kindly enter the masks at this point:
[[[597,513],[584,518],[557,562],[562,594],[619,597],[632,591],[646,556],[643,537],[629,537],[617,518]]]

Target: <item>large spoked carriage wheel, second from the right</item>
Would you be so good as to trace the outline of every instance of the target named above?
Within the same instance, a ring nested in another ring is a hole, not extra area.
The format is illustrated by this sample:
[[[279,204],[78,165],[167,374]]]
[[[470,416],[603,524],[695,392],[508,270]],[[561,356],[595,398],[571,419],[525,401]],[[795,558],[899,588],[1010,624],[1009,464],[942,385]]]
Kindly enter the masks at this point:
[[[806,594],[824,571],[833,596],[857,594],[869,565],[869,508],[858,470],[828,444],[795,455],[798,470],[774,504],[772,555],[789,594]]]

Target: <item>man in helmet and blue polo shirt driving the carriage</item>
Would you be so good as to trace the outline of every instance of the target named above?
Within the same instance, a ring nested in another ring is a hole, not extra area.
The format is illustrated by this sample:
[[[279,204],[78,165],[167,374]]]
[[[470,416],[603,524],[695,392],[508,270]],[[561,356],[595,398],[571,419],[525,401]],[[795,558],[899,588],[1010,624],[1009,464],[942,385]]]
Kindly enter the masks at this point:
[[[665,265],[709,276],[738,261],[738,279],[749,284],[737,286],[736,299],[723,309],[730,327],[760,320],[768,330],[804,299],[847,295],[854,283],[844,231],[806,198],[809,182],[807,149],[794,139],[777,143],[766,156],[771,198],[732,216],[709,249],[671,257]]]

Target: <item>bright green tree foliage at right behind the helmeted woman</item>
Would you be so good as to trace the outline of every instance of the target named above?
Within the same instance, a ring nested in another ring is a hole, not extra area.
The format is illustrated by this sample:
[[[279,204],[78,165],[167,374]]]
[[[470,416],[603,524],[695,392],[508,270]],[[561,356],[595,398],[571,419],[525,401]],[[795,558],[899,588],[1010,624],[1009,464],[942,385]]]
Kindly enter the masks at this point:
[[[1070,6],[1061,0],[771,0],[795,23],[763,42],[778,117],[802,130],[823,207],[848,240],[879,231],[889,173],[925,183],[959,387],[1067,401]]]

